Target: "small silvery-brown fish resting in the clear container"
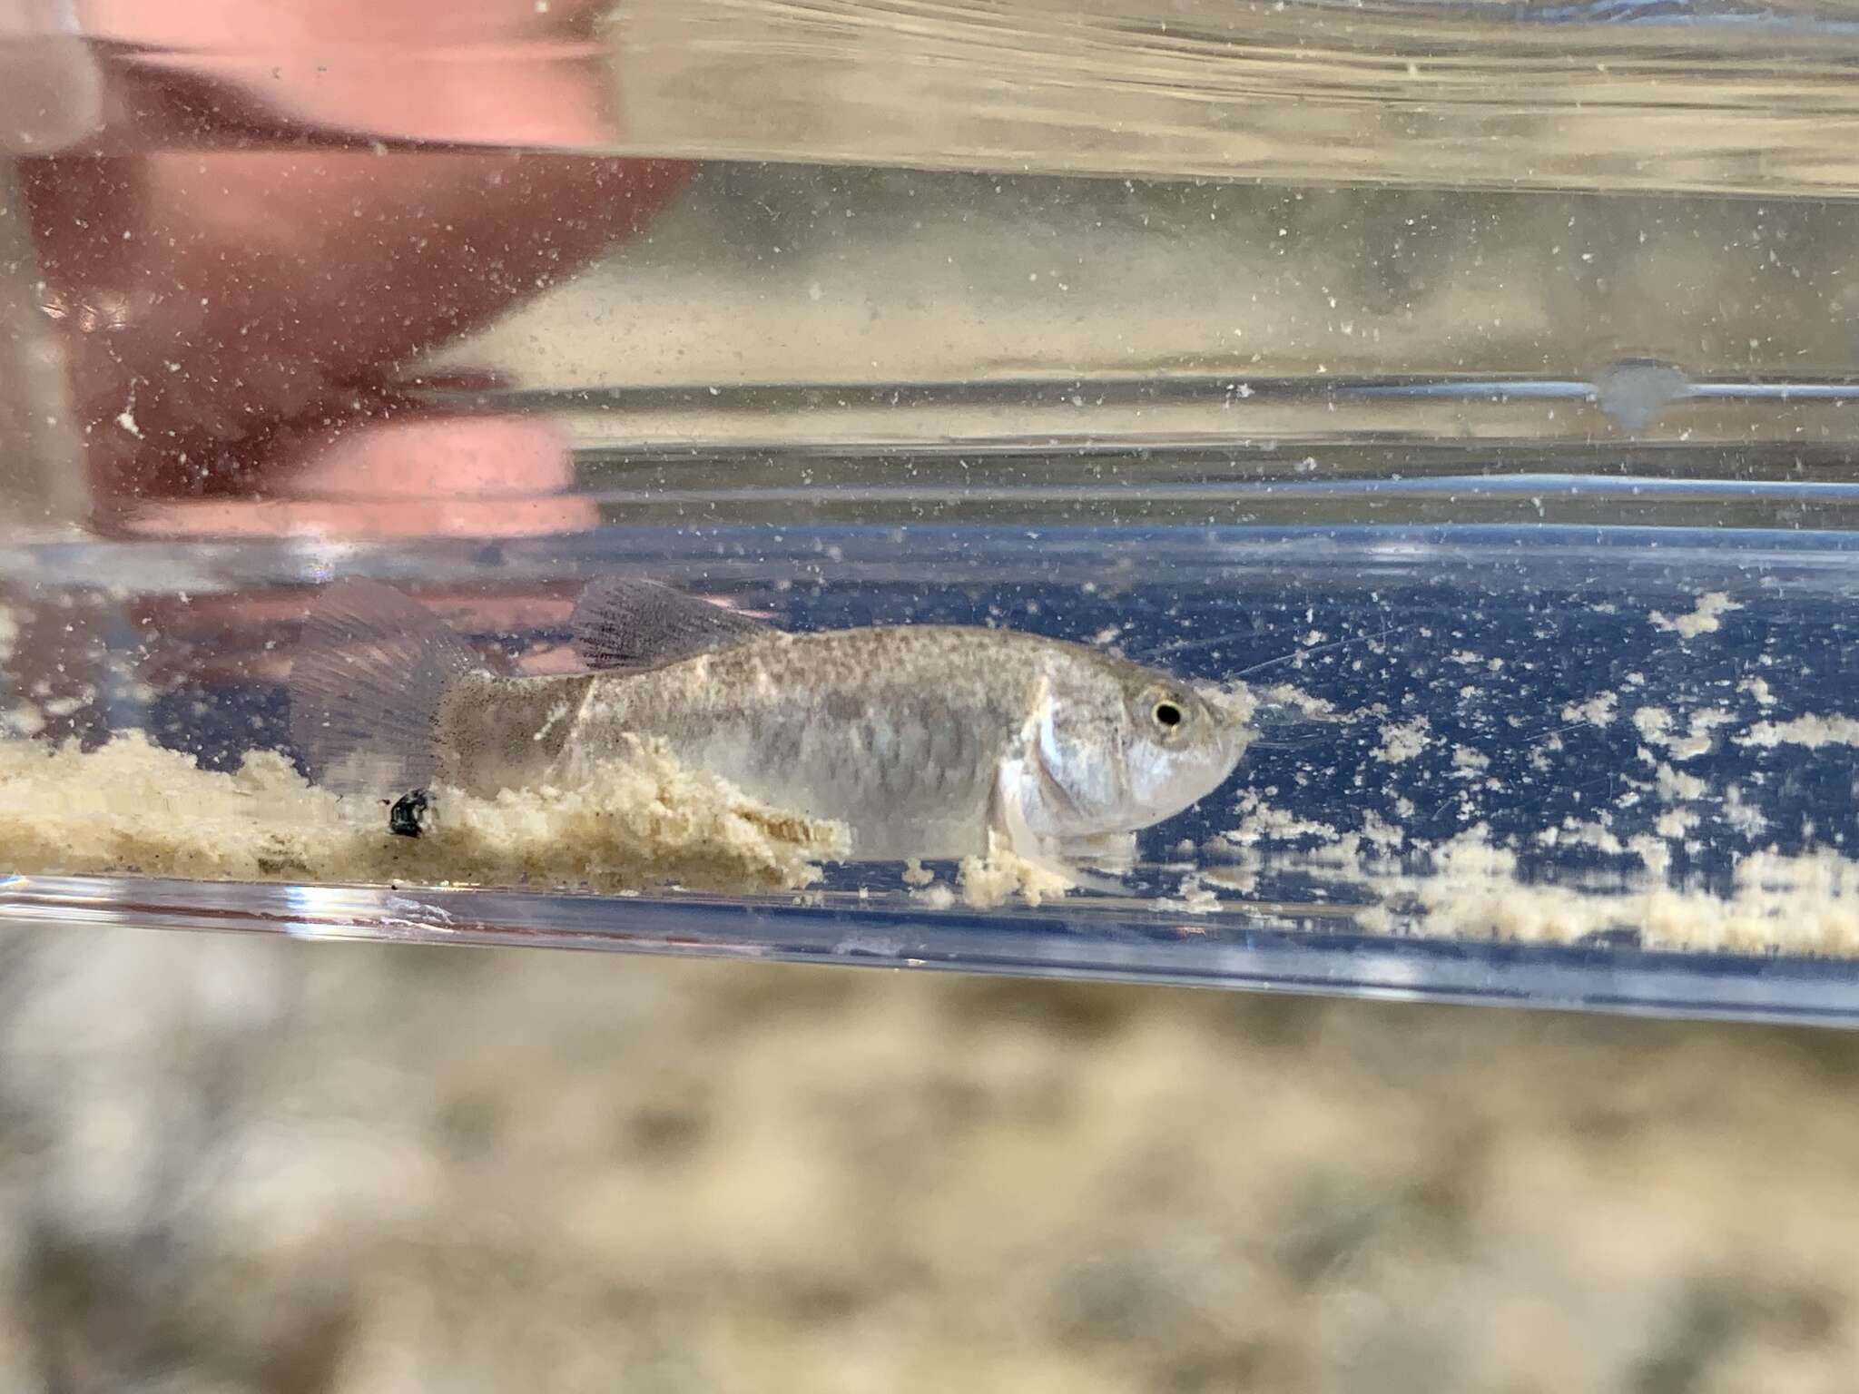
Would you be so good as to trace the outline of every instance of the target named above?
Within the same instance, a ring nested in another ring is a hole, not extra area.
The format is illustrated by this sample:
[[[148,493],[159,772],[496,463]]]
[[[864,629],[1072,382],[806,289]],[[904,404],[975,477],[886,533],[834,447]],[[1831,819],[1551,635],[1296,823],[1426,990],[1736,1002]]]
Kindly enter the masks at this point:
[[[589,673],[504,677],[400,591],[331,585],[292,669],[292,734],[318,781],[374,796],[571,786],[656,736],[755,799],[844,822],[861,861],[1006,846],[1047,866],[1127,851],[1253,736],[1218,693],[1013,630],[788,634],[630,578],[591,584],[571,628]]]

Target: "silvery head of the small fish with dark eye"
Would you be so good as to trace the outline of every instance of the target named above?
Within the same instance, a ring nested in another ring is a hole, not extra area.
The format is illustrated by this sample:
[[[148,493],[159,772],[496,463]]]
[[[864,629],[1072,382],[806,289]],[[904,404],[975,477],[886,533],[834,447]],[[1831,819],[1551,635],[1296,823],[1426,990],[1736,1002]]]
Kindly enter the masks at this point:
[[[1097,701],[1048,708],[1039,755],[1056,786],[1054,833],[1130,833],[1205,799],[1253,738],[1251,701],[1134,664]]]

